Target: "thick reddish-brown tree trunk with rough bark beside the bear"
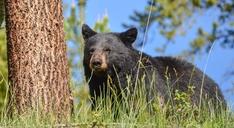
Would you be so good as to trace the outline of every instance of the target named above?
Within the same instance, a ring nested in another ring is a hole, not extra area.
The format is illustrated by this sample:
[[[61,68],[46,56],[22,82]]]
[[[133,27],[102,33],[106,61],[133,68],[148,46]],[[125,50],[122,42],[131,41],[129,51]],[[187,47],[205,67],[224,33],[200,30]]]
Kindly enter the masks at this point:
[[[19,114],[42,110],[68,117],[72,97],[62,0],[5,0],[5,6],[10,107]]]

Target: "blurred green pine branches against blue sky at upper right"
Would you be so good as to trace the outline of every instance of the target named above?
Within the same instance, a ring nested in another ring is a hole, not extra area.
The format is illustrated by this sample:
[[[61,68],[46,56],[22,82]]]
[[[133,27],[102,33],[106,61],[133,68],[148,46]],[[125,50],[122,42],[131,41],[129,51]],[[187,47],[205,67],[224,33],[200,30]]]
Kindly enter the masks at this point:
[[[205,32],[202,27],[197,28],[197,37],[190,41],[190,49],[183,51],[185,57],[191,57],[196,53],[201,53],[202,49],[208,49],[217,39],[223,47],[234,48],[234,1],[220,0],[148,0],[148,5],[144,12],[135,11],[130,16],[141,33],[145,33],[147,17],[152,6],[149,26],[156,26],[160,34],[165,37],[167,42],[162,47],[156,48],[158,52],[164,52],[169,42],[175,42],[177,36],[184,36],[193,27],[196,20],[203,16],[207,11],[214,11],[217,14],[211,25],[211,30]],[[214,14],[213,14],[214,15]],[[156,24],[156,25],[152,25]],[[124,26],[135,26],[133,24]],[[201,33],[202,32],[202,33]],[[144,35],[144,34],[140,34]],[[143,37],[142,37],[143,39]],[[139,42],[142,42],[140,40]],[[142,45],[142,44],[140,44]]]

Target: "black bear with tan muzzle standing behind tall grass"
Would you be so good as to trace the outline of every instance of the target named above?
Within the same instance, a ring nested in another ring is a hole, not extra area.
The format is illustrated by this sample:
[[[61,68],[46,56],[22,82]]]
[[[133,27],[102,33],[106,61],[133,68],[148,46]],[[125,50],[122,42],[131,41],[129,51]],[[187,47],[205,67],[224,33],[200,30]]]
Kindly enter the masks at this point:
[[[136,28],[121,33],[97,33],[84,24],[82,35],[85,41],[83,66],[93,108],[97,98],[105,95],[108,78],[120,94],[121,89],[129,86],[127,78],[134,83],[142,77],[148,101],[155,98],[156,92],[166,103],[175,90],[190,93],[188,88],[193,86],[193,104],[198,105],[200,97],[206,97],[215,106],[226,105],[218,85],[206,75],[203,78],[203,72],[191,63],[173,57],[151,57],[135,50],[132,43],[137,37]],[[131,86],[129,90],[133,92],[134,84]]]

